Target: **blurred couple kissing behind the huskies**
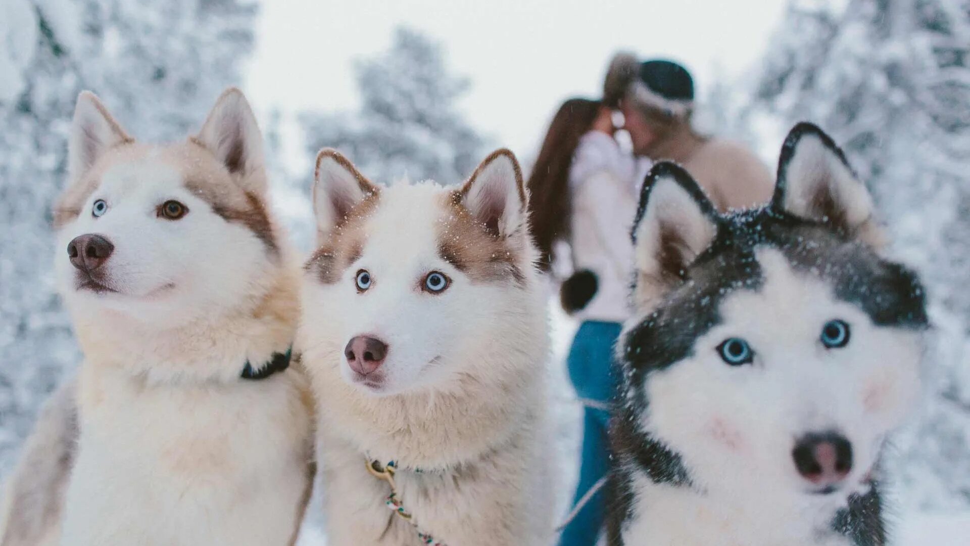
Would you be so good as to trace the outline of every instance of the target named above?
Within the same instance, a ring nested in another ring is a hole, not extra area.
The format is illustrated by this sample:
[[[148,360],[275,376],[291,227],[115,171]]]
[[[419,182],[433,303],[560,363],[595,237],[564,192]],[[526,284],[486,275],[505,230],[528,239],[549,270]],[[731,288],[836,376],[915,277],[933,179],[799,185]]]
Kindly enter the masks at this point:
[[[587,401],[573,504],[608,468],[609,414],[603,408],[618,385],[613,346],[631,312],[630,226],[650,165],[680,163],[722,211],[758,206],[774,188],[771,173],[750,151],[695,129],[694,98],[694,79],[680,64],[618,53],[602,98],[563,103],[533,166],[532,230],[541,266],[567,277],[563,307],[580,323],[566,359],[569,379]],[[622,126],[614,123],[617,112]],[[629,146],[617,140],[620,129]],[[560,546],[596,544],[602,521],[603,498],[596,493],[566,526]]]

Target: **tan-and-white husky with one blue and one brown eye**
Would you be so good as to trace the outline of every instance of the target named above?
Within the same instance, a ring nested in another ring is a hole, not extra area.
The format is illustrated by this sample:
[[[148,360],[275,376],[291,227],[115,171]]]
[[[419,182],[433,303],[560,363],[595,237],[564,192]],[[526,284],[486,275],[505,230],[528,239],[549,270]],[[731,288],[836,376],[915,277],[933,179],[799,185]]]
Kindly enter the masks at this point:
[[[299,269],[242,93],[168,146],[136,142],[81,93],[68,175],[56,274],[85,359],[50,410],[71,415],[77,398],[77,453],[48,456],[74,460],[60,543],[292,543],[311,483],[307,389],[286,369]],[[38,443],[70,445],[75,429],[55,428]],[[9,529],[36,523],[18,517]]]

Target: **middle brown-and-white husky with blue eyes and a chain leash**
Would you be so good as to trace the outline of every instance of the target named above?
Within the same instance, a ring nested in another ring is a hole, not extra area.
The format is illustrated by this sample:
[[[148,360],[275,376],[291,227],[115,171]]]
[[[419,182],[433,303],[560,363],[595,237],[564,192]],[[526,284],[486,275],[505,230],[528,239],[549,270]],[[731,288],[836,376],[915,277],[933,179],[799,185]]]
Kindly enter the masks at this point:
[[[328,543],[548,540],[546,311],[515,157],[458,188],[378,188],[323,150],[313,206],[297,346]]]

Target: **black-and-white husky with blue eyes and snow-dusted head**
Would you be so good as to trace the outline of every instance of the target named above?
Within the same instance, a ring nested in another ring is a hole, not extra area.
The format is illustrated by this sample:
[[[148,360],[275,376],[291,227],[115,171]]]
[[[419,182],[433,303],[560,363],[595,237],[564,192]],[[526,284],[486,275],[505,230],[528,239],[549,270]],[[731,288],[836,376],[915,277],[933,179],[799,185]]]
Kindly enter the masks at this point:
[[[719,215],[660,163],[634,226],[609,544],[886,543],[880,456],[918,398],[916,275],[877,254],[872,200],[801,123],[769,205]]]

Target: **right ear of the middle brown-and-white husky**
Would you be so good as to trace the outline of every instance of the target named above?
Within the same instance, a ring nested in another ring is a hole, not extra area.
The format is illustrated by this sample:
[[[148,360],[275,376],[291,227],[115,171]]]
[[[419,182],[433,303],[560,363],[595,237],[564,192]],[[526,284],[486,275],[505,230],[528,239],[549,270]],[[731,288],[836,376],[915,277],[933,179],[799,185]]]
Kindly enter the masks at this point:
[[[489,154],[459,192],[462,205],[494,236],[524,232],[529,197],[515,154],[504,148]]]

